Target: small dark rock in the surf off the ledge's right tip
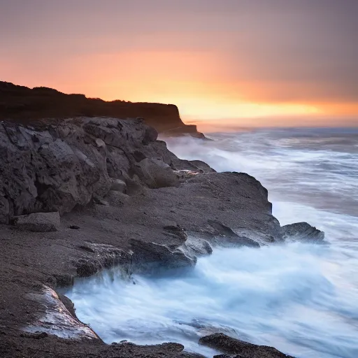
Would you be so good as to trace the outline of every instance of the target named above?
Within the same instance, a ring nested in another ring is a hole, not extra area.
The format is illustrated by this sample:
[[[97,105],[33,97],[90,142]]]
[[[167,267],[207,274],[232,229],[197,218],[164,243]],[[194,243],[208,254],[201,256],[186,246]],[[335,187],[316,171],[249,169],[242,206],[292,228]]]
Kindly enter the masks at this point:
[[[282,238],[285,241],[323,241],[324,232],[312,227],[307,222],[296,222],[281,227]]]

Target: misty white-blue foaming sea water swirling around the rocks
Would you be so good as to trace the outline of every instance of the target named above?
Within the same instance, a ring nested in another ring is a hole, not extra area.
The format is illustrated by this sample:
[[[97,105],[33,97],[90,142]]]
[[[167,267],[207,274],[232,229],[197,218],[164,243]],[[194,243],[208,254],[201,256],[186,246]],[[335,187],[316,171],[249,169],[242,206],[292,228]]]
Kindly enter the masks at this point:
[[[67,295],[107,343],[175,341],[212,357],[223,331],[297,358],[358,357],[358,130],[300,129],[176,138],[169,149],[267,187],[281,224],[307,221],[329,245],[216,249],[189,273],[134,282],[116,270]],[[135,285],[134,285],[135,283]]]

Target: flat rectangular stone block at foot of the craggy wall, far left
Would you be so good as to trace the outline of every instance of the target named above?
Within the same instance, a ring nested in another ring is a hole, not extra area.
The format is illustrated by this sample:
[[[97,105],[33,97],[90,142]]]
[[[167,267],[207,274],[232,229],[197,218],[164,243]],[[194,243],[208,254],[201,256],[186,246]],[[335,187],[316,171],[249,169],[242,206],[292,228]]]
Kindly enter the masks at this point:
[[[59,230],[59,213],[34,213],[13,218],[18,229],[34,232]]]

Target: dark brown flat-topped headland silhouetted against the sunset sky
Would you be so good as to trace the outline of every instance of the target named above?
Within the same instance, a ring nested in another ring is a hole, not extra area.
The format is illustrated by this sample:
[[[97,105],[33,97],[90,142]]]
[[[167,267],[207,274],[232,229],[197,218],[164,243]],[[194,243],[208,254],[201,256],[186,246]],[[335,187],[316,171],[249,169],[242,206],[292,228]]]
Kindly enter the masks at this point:
[[[202,136],[196,126],[185,125],[179,110],[173,104],[131,103],[90,99],[84,94],[64,94],[47,87],[28,87],[0,82],[0,120],[29,120],[70,117],[143,117],[145,122],[159,131],[171,135]]]

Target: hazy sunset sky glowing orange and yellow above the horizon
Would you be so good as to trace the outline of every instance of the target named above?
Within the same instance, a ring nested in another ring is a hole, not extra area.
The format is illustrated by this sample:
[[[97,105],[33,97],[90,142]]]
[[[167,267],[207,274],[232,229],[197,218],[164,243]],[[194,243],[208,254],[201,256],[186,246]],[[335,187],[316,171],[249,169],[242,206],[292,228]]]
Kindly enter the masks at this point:
[[[199,127],[358,126],[358,0],[0,0],[0,80]]]

